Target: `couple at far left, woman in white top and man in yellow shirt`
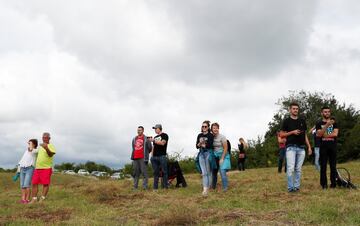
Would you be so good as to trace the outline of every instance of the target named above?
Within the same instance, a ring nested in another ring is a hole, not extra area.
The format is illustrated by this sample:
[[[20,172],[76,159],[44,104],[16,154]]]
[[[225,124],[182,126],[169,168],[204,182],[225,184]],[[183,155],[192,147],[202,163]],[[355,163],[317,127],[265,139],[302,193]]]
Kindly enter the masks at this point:
[[[19,161],[21,203],[42,202],[49,192],[53,158],[56,153],[53,144],[50,144],[50,133],[43,133],[42,143],[38,146],[37,139],[28,141]],[[43,185],[42,195],[38,198],[38,186]],[[32,187],[32,191],[30,191]],[[30,196],[32,197],[30,199]]]

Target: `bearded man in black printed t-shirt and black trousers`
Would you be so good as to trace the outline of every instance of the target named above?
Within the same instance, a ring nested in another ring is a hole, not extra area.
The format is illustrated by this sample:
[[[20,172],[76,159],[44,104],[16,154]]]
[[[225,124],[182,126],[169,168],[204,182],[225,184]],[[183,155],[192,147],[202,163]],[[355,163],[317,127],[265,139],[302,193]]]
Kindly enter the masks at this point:
[[[336,187],[336,138],[339,133],[335,118],[331,117],[329,107],[321,109],[323,119],[316,124],[316,135],[321,138],[320,144],[320,185],[327,189],[326,166],[330,163],[330,187]]]

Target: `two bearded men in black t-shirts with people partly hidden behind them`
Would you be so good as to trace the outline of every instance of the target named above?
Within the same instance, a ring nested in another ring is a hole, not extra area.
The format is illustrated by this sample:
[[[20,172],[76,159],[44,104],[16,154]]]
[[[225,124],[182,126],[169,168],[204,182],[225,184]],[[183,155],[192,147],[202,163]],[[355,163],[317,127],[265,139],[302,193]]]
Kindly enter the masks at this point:
[[[312,154],[311,145],[307,137],[307,125],[304,119],[299,118],[299,105],[291,103],[290,116],[283,121],[281,131],[278,133],[280,146],[279,172],[281,172],[281,157],[285,155],[287,188],[289,192],[300,191],[301,169],[305,159],[305,147],[308,154]],[[330,187],[336,187],[336,139],[339,133],[335,118],[331,117],[331,110],[324,106],[321,109],[322,119],[316,123],[315,136],[315,166],[320,159],[320,185],[328,188],[326,168],[330,163]],[[318,155],[320,153],[320,156]]]

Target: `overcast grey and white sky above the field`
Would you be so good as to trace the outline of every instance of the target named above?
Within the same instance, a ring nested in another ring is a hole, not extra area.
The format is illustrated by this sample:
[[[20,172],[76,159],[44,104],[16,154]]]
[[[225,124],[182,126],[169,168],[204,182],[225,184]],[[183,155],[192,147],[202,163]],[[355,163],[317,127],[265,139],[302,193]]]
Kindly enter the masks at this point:
[[[55,162],[129,162],[139,125],[196,153],[203,120],[263,135],[289,90],[360,108],[360,3],[0,0],[0,167],[52,135]]]

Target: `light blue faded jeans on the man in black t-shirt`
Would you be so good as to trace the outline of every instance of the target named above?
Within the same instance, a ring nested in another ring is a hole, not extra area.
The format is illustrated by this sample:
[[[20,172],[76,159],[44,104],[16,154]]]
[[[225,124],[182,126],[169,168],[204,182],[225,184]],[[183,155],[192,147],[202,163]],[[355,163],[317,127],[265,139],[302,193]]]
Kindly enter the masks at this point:
[[[298,146],[289,146],[286,148],[286,176],[289,191],[300,189],[301,167],[304,159],[304,148]]]

